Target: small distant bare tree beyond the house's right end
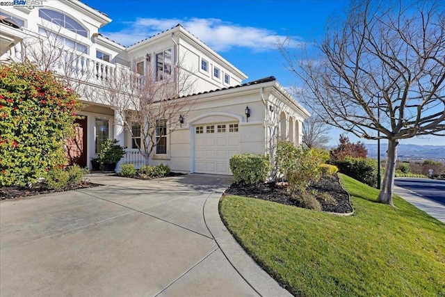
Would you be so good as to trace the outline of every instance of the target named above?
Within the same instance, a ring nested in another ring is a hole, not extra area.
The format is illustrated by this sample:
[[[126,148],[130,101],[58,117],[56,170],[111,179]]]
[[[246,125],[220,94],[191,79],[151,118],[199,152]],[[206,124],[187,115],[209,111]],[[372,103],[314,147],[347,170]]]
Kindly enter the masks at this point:
[[[328,135],[331,127],[327,125],[318,115],[314,114],[307,118],[302,125],[302,143],[308,148],[326,148],[330,141]]]

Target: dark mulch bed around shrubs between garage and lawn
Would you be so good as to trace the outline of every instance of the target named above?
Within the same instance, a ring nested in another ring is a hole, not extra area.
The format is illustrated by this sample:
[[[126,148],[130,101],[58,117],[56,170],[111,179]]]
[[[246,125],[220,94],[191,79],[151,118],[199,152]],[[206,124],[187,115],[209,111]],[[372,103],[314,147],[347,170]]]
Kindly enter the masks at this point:
[[[312,193],[312,195],[316,197],[323,211],[338,214],[347,214],[353,211],[349,194],[341,186],[337,175],[323,175],[318,182],[314,182],[307,188],[307,192]],[[289,193],[286,184],[246,185],[235,182],[227,188],[225,193],[268,200],[296,207],[300,206],[300,202],[296,199],[299,193]],[[330,199],[326,199],[327,194],[331,197]]]

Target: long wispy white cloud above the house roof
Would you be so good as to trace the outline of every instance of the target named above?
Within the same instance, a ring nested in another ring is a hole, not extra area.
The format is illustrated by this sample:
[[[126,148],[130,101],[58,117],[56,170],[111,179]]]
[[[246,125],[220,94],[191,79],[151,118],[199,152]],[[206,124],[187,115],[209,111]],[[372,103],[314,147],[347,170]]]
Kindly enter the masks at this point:
[[[286,38],[277,35],[276,32],[255,28],[252,26],[241,26],[224,22],[221,19],[152,19],[138,18],[134,22],[124,22],[120,31],[104,32],[103,34],[122,45],[128,46],[135,42],[144,40],[161,31],[182,24],[197,38],[209,45],[216,51],[228,51],[232,47],[245,47],[254,51],[267,51],[275,49],[277,39]],[[305,42],[293,38],[291,47],[302,47]]]

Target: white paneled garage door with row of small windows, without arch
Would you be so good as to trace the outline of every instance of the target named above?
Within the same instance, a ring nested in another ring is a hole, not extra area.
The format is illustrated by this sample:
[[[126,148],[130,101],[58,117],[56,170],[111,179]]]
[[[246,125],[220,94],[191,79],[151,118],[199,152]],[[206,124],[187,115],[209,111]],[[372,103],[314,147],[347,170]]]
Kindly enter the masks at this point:
[[[231,175],[229,159],[239,154],[237,123],[195,126],[195,172]]]

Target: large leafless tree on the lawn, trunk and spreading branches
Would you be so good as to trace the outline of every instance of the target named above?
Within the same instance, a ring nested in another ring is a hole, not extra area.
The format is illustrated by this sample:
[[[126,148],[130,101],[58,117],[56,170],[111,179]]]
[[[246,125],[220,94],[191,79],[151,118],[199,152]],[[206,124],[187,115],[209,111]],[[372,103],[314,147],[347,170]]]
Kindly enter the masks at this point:
[[[442,0],[353,1],[340,26],[327,28],[321,60],[296,60],[289,43],[280,45],[307,106],[360,138],[388,140],[382,203],[394,205],[399,141],[444,136],[444,8]]]

